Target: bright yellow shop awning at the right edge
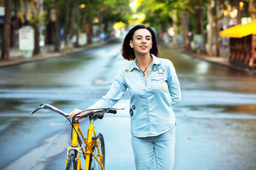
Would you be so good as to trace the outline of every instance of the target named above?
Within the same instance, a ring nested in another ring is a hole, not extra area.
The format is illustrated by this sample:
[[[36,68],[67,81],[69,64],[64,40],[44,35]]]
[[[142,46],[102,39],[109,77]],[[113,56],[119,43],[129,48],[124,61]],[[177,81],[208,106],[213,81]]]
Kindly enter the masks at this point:
[[[221,37],[229,38],[242,38],[251,34],[256,34],[256,19],[245,25],[238,24],[237,26],[220,31]]]

